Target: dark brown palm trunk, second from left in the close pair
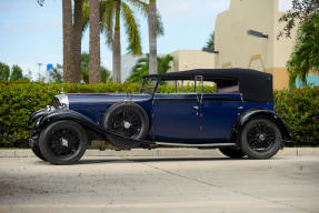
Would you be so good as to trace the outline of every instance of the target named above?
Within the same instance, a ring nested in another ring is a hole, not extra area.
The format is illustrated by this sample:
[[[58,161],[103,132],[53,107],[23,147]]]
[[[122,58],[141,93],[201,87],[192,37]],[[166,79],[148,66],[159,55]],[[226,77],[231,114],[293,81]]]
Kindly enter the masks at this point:
[[[72,30],[72,83],[81,81],[81,41],[82,41],[82,7],[83,0],[74,0],[73,30]]]

